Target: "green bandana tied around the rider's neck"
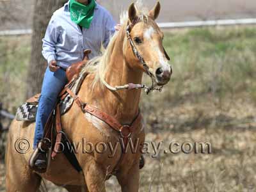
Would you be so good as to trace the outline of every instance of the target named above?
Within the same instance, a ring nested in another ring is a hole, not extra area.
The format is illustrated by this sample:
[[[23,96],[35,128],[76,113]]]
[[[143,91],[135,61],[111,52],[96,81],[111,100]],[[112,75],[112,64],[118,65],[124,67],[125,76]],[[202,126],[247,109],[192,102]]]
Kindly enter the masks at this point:
[[[71,20],[86,29],[90,28],[96,6],[95,0],[90,1],[88,5],[78,3],[76,0],[70,0],[69,2]]]

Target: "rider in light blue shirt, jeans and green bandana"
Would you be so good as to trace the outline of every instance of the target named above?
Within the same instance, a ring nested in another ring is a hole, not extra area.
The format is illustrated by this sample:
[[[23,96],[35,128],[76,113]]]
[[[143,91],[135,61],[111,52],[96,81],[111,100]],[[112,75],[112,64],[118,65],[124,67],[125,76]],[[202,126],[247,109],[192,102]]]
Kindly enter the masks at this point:
[[[58,94],[67,84],[65,68],[83,60],[83,51],[91,49],[90,56],[98,56],[102,45],[106,47],[115,29],[111,14],[95,0],[69,0],[54,12],[43,39],[42,54],[48,61],[42,92],[36,114],[34,149],[42,140],[47,118],[54,108]],[[45,169],[45,152],[38,151],[36,168]]]

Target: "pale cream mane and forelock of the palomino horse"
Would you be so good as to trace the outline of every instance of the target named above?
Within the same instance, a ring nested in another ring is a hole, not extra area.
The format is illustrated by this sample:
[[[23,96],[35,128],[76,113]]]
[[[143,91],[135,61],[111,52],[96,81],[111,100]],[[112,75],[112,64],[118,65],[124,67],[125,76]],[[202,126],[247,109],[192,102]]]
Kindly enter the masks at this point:
[[[138,12],[138,17],[142,22],[147,22],[148,21],[148,10],[145,8],[143,4],[143,0],[138,0],[135,3],[136,10]],[[128,22],[128,12],[124,11],[120,15],[120,24],[122,28],[120,29],[119,33],[122,33],[122,30],[126,29],[126,25]],[[101,56],[96,56],[92,60],[88,61],[86,66],[82,69],[82,73],[84,72],[89,72],[95,74],[95,77],[92,82],[92,88],[94,88],[95,84],[100,83],[102,86],[102,82],[105,79],[106,72],[108,70],[108,63],[111,58],[111,54],[113,52],[113,49],[115,47],[115,42],[116,39],[118,38],[118,34],[115,33],[113,36],[111,36],[109,40],[108,47],[104,49],[103,45],[101,46]]]

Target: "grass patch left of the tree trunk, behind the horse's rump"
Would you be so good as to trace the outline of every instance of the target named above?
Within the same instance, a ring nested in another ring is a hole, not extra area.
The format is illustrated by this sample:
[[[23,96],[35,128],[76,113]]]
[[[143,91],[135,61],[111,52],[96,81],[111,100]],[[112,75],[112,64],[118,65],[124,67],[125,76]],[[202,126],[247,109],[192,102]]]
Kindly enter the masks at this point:
[[[24,100],[30,36],[0,37],[0,102],[15,113]]]

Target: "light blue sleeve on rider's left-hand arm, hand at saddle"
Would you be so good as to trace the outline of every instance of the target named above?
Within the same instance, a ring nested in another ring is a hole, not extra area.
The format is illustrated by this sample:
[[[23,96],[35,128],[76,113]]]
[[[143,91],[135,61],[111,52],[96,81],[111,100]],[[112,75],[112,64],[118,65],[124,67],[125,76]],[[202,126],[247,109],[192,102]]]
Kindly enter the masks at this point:
[[[47,26],[45,36],[42,40],[43,42],[42,54],[48,63],[50,63],[50,61],[52,60],[56,60],[57,41],[58,41],[58,31],[56,27],[56,21],[54,21],[54,19],[51,19]]]

